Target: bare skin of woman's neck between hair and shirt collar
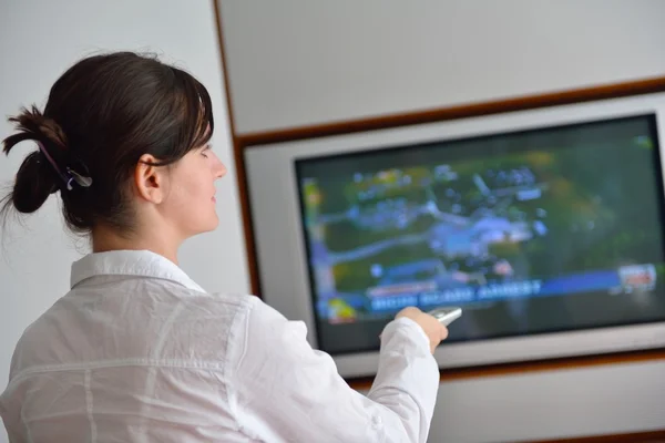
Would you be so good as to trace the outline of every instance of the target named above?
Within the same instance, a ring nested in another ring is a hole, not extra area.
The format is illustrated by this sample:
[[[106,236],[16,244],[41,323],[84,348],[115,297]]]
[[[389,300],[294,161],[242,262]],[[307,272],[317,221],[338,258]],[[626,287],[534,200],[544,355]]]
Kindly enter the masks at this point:
[[[150,250],[177,265],[177,250],[181,241],[173,240],[175,236],[157,233],[156,229],[146,234],[132,233],[126,235],[100,226],[92,231],[92,251]]]

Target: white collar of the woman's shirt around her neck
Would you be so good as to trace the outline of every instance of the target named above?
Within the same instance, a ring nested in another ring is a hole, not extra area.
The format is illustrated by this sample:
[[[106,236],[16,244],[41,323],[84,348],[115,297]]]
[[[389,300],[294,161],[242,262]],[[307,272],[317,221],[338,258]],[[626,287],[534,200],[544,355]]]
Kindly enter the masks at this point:
[[[135,276],[171,280],[205,292],[177,265],[149,250],[112,250],[89,254],[72,264],[71,287],[95,276]]]

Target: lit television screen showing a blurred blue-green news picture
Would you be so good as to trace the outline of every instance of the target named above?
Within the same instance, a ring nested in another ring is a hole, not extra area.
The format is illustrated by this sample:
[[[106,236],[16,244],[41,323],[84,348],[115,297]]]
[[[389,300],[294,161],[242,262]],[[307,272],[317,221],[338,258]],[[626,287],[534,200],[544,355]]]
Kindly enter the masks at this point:
[[[316,333],[379,348],[407,306],[448,342],[665,319],[653,114],[296,161]]]

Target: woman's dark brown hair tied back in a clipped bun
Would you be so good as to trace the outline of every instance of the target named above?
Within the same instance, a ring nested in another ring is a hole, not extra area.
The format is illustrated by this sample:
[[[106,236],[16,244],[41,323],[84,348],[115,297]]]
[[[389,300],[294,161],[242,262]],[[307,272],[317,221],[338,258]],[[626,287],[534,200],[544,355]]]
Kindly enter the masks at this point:
[[[35,106],[10,117],[20,142],[37,148],[21,164],[2,213],[29,214],[60,190],[68,226],[89,233],[99,224],[131,230],[129,178],[144,154],[166,166],[205,145],[214,130],[206,89],[188,73],[154,56],[115,52],[81,60],[52,86],[43,113]],[[88,176],[86,186],[63,172]]]

